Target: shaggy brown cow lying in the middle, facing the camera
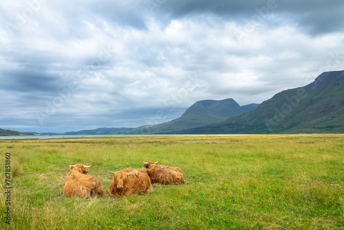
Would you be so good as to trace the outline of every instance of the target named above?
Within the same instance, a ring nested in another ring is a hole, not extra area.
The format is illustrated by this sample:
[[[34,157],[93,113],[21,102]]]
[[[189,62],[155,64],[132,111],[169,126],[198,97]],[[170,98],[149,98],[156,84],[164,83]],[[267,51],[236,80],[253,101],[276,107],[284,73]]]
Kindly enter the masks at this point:
[[[123,169],[110,174],[114,174],[114,178],[109,188],[109,196],[129,197],[133,194],[150,194],[153,191],[147,171]]]

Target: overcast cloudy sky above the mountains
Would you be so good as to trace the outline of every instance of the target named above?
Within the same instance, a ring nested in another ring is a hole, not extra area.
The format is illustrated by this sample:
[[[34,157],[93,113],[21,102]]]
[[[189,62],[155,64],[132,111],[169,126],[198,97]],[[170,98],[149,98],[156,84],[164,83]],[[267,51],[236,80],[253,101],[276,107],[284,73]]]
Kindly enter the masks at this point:
[[[261,103],[344,70],[344,1],[0,3],[0,128],[69,132]]]

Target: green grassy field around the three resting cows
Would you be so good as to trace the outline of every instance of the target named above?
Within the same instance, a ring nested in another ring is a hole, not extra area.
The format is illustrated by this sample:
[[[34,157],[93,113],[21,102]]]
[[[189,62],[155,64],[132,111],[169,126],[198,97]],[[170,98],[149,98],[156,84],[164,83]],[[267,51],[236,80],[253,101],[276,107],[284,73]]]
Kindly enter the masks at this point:
[[[0,140],[11,154],[10,225],[0,229],[344,229],[344,135],[135,136]],[[186,185],[130,198],[65,198],[66,163],[110,171],[160,159]]]

